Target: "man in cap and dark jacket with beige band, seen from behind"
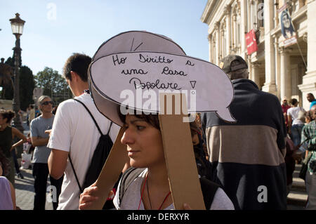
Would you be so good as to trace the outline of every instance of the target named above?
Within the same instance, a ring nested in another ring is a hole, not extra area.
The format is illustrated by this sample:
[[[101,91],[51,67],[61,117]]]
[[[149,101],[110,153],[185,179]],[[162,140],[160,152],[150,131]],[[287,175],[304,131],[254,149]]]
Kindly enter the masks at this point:
[[[213,181],[235,209],[287,209],[287,130],[279,100],[248,79],[248,65],[239,55],[223,58],[220,67],[232,80],[235,95],[229,107],[237,121],[202,113]]]

